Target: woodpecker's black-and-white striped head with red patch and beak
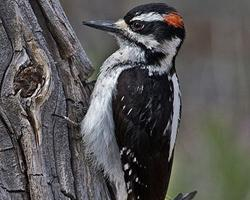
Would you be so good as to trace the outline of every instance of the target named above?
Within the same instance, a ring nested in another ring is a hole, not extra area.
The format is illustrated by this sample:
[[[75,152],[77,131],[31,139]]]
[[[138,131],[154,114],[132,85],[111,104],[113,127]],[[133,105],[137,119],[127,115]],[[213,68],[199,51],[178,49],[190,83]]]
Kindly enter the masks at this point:
[[[169,54],[174,57],[185,38],[181,15],[164,3],[137,6],[116,22],[84,21],[83,24],[112,33],[120,46],[142,48],[149,59]]]

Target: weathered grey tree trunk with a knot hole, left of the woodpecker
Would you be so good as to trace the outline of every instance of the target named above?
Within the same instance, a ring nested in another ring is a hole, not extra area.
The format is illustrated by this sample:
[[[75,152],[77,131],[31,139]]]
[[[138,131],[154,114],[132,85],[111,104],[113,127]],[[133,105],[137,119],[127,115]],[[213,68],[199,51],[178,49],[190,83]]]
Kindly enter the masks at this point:
[[[91,64],[58,0],[0,1],[0,199],[110,199],[79,127]]]

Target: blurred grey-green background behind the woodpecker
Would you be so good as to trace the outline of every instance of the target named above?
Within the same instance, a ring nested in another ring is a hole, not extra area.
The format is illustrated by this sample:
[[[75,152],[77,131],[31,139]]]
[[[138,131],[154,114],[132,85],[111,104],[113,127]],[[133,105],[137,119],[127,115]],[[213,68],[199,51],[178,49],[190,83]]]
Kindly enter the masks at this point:
[[[117,46],[81,21],[118,19],[148,2],[156,1],[61,0],[96,68]],[[197,190],[197,200],[250,200],[250,1],[157,2],[176,7],[187,30],[176,63],[183,115],[168,197]]]

